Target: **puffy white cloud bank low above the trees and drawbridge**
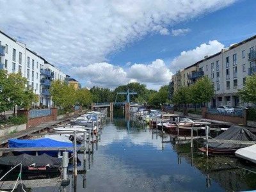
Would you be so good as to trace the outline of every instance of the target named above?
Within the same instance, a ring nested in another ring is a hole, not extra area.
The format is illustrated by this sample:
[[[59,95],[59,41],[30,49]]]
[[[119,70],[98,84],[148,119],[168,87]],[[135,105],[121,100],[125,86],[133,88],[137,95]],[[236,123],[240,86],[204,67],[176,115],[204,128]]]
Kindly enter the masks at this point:
[[[150,65],[134,64],[129,68],[122,68],[111,63],[94,63],[86,67],[72,67],[70,74],[76,75],[86,82],[86,86],[105,86],[115,88],[120,84],[131,82],[146,83],[154,89],[167,84],[172,73],[163,60],[153,61]]]

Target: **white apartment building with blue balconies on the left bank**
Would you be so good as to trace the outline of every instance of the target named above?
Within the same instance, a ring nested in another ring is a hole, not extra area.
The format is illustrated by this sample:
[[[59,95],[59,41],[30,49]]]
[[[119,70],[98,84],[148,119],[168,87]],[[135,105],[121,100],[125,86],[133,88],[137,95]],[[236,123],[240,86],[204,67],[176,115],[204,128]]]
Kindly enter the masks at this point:
[[[66,74],[60,68],[47,62],[44,58],[31,51],[26,44],[18,42],[0,31],[0,69],[6,69],[8,74],[20,72],[28,79],[38,95],[36,105],[50,107],[52,105],[49,88],[51,81],[61,79],[65,81]]]

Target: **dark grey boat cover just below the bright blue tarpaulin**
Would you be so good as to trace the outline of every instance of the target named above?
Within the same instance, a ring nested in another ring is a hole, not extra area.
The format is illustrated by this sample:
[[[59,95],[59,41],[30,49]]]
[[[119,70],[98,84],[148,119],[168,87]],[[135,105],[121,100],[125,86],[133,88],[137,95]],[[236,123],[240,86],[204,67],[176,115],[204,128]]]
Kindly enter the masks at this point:
[[[50,167],[60,167],[61,159],[56,157],[48,156],[47,154],[42,154],[40,156],[31,156],[28,154],[21,154],[19,156],[5,156],[0,157],[0,164],[6,166],[15,166],[19,163],[22,163],[22,166],[30,166],[35,163],[35,167],[46,166],[47,164]]]

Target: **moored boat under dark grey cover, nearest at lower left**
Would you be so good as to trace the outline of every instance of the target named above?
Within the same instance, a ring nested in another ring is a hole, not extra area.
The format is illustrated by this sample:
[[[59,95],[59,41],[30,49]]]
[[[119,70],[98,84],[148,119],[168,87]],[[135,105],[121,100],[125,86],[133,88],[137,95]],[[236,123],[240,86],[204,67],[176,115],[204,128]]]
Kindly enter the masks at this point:
[[[40,156],[31,156],[29,154],[20,154],[19,156],[0,157],[0,169],[10,170],[19,163],[22,163],[22,172],[60,172],[62,160],[57,157],[51,157],[47,154]],[[20,172],[20,166],[15,171]]]

